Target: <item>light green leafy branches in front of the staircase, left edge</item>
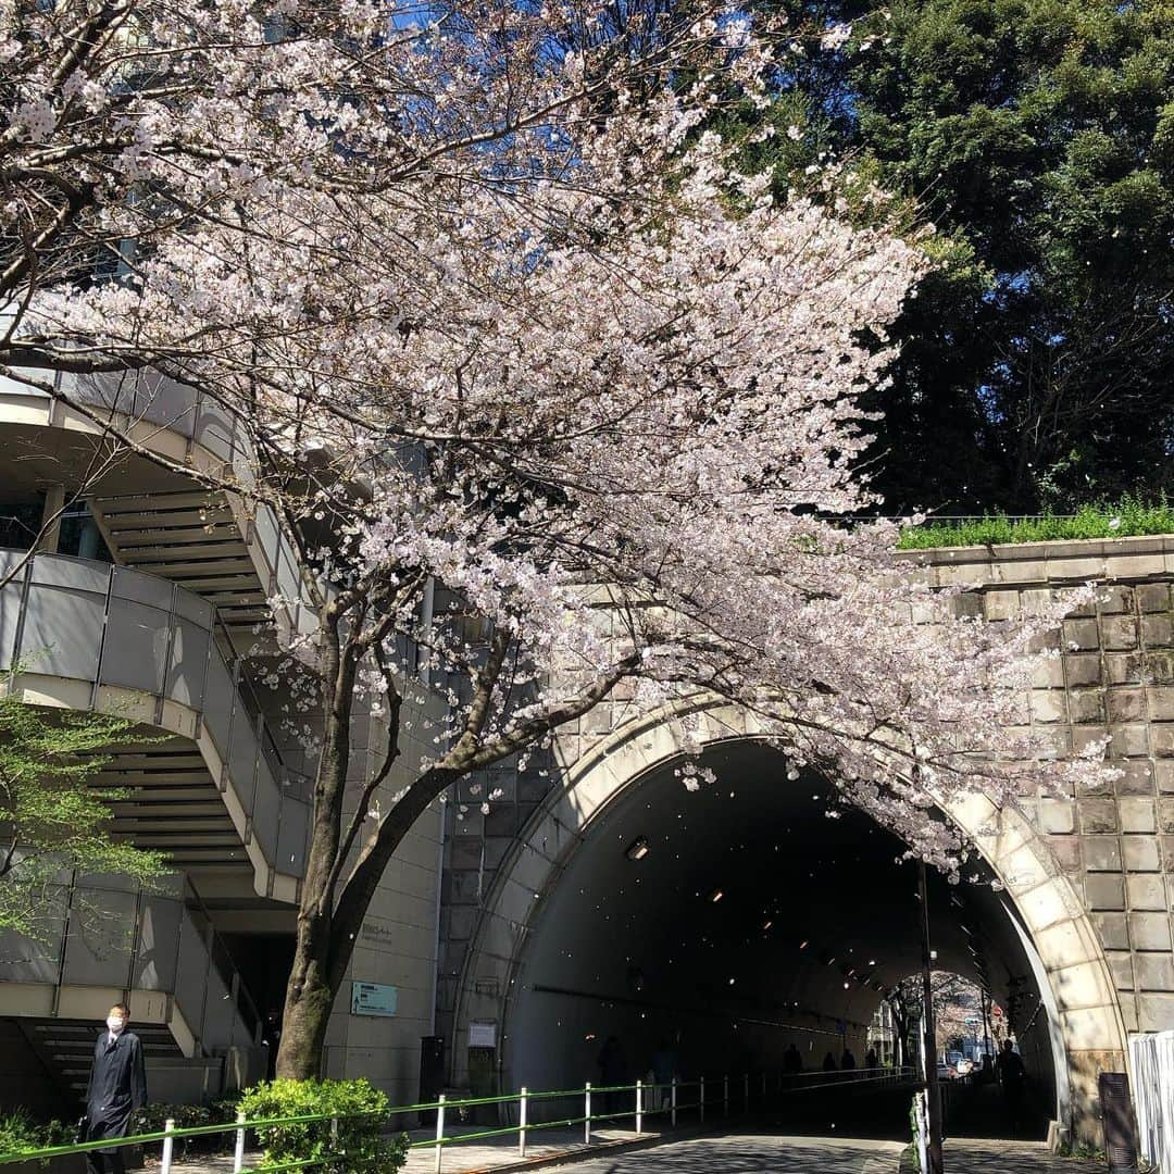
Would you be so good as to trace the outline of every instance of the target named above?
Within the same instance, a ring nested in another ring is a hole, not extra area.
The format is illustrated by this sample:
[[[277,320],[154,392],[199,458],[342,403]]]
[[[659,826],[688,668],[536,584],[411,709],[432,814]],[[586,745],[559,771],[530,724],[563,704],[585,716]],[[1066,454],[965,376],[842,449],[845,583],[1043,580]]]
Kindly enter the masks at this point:
[[[42,710],[0,695],[0,929],[33,938],[50,932],[68,870],[141,883],[167,871],[158,852],[112,836],[109,804],[124,792],[92,785],[108,761],[101,751],[126,743],[130,729],[116,717]],[[73,916],[85,920],[86,910],[79,905]]]

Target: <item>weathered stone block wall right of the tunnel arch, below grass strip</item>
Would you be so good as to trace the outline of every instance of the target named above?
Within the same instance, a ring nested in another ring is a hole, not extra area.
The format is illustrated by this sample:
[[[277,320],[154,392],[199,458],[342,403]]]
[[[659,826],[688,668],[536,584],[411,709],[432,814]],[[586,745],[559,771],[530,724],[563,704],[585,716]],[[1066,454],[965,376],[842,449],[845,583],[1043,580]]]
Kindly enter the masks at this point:
[[[1097,602],[1055,633],[1025,720],[1059,755],[1108,737],[1120,777],[1023,804],[1084,900],[1127,1031],[1174,1027],[1174,537],[924,552],[942,586],[973,586],[998,620],[1095,581]]]

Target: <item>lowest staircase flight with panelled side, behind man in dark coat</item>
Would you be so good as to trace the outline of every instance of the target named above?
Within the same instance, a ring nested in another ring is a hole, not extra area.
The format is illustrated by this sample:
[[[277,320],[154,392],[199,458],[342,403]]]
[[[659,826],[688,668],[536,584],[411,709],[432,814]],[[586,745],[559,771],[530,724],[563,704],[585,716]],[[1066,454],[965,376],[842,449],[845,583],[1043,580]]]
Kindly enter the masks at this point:
[[[5,1066],[80,1097],[106,1013],[126,1003],[153,1100],[218,1095],[229,1057],[238,1078],[263,1073],[261,1017],[223,940],[189,880],[164,884],[169,892],[74,878],[47,897],[47,939],[0,931],[0,1039],[22,1044]]]

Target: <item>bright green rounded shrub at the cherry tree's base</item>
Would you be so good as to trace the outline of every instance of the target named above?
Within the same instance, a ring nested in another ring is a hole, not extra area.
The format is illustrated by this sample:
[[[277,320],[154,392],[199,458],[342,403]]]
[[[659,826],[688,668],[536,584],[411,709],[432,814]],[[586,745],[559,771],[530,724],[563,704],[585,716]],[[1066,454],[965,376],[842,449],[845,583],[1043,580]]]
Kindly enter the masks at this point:
[[[330,1121],[258,1129],[265,1165],[313,1161],[325,1174],[394,1174],[407,1156],[407,1134],[384,1136],[387,1098],[366,1080],[266,1081],[250,1088],[239,1107],[250,1121],[317,1113],[338,1118],[337,1136]]]

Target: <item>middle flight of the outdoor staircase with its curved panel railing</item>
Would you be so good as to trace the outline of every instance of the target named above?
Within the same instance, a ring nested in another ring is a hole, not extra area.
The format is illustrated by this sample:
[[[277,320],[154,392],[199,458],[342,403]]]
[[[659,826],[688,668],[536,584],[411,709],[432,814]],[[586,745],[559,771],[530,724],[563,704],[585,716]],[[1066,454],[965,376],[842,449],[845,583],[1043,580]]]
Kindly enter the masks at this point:
[[[0,669],[33,704],[99,710],[170,735],[117,749],[116,831],[184,868],[251,868],[295,902],[309,780],[286,765],[212,606],[176,583],[88,559],[0,551]]]

